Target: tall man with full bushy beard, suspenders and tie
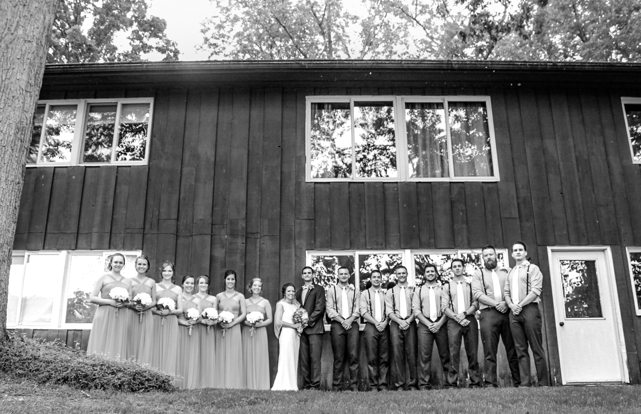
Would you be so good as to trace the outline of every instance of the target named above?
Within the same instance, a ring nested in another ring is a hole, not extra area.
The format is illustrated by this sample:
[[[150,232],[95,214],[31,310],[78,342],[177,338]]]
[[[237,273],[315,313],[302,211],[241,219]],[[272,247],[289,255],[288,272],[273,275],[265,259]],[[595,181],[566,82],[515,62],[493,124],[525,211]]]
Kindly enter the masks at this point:
[[[478,269],[472,277],[472,297],[478,301],[481,308],[481,342],[485,354],[485,386],[497,388],[499,381],[496,374],[496,354],[499,350],[499,336],[508,356],[512,385],[520,385],[519,358],[514,347],[512,331],[510,330],[510,314],[508,305],[503,299],[505,281],[510,269],[497,267],[496,250],[487,245],[481,251],[485,269]]]

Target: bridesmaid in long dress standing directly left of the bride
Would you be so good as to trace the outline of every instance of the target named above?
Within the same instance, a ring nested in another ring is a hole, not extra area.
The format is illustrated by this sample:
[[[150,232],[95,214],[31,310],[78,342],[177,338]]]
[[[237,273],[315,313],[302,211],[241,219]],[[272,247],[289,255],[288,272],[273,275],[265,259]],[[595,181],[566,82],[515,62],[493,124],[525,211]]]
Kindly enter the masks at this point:
[[[247,288],[252,294],[245,300],[247,315],[257,311],[263,314],[263,320],[255,326],[247,322],[247,319],[243,322],[242,361],[245,366],[245,387],[251,390],[269,390],[269,347],[265,326],[272,323],[272,306],[260,295],[263,282],[258,277],[251,279]]]

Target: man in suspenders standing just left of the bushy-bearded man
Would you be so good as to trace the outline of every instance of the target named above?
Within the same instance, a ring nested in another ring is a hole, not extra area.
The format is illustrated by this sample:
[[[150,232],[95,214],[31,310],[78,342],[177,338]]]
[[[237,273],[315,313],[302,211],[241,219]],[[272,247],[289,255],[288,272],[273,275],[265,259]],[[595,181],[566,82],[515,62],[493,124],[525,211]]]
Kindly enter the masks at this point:
[[[458,386],[458,367],[461,358],[461,341],[465,342],[467,354],[467,372],[470,388],[480,386],[479,363],[476,357],[479,346],[479,331],[474,312],[476,301],[472,299],[472,286],[463,277],[463,260],[454,259],[451,264],[454,277],[443,286],[441,309],[447,315],[447,338],[449,340],[449,358],[452,367],[447,373],[445,386]]]

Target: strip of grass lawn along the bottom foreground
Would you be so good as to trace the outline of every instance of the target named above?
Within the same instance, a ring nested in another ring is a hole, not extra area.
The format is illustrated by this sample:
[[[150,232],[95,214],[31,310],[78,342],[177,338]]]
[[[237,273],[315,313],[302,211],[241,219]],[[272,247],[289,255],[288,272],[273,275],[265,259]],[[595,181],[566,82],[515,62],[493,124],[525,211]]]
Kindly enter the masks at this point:
[[[94,391],[0,378],[0,413],[641,413],[641,386],[431,392]]]

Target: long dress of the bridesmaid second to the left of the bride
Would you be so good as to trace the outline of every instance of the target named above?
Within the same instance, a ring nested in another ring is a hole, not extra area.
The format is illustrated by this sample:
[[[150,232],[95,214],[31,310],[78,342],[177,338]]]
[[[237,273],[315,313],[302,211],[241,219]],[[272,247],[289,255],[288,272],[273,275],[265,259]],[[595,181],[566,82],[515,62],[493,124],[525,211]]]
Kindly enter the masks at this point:
[[[218,303],[218,313],[229,311],[234,318],[240,315],[240,302],[245,297],[238,292],[231,298],[223,292],[223,299]],[[216,367],[218,368],[219,388],[243,388],[244,370],[242,366],[242,339],[240,324],[227,329],[222,336],[219,322],[216,325]]]

